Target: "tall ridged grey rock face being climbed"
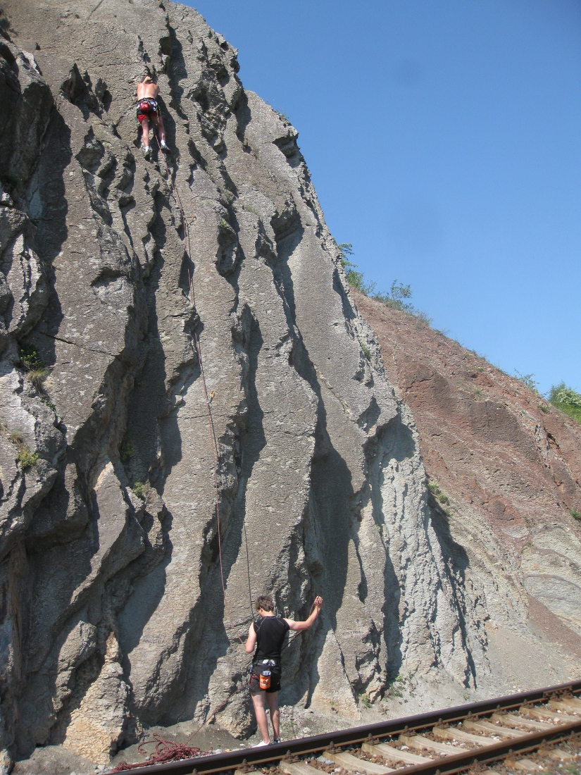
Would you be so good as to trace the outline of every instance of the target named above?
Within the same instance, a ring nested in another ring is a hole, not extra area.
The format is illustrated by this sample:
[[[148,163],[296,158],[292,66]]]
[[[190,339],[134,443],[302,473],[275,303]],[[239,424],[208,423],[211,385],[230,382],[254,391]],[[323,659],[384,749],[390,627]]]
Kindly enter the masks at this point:
[[[442,550],[413,418],[296,130],[192,9],[3,8],[6,760],[53,742],[107,763],[148,725],[204,720],[246,680],[237,635],[263,592],[295,618],[325,598],[284,651],[286,704],[356,719],[400,671],[473,684],[482,613]],[[155,143],[139,151],[147,71],[169,175]],[[248,733],[248,696],[218,722]]]

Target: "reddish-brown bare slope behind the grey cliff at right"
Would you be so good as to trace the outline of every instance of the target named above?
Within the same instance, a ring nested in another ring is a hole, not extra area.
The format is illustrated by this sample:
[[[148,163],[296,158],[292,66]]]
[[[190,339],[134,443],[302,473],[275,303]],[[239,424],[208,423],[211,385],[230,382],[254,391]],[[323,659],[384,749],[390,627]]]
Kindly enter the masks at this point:
[[[468,544],[475,525],[480,540],[486,530],[496,536],[528,622],[579,652],[581,522],[571,512],[581,511],[581,425],[412,315],[353,294],[414,412],[443,508],[469,525]],[[506,565],[489,559],[490,573]]]

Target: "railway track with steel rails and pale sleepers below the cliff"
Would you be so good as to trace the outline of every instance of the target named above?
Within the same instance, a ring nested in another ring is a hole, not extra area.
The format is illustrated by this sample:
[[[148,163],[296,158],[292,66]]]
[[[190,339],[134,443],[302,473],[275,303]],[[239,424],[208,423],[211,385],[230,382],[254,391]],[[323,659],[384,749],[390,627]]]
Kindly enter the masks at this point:
[[[452,775],[479,764],[486,775],[499,764],[514,775],[581,770],[581,681],[136,772]]]

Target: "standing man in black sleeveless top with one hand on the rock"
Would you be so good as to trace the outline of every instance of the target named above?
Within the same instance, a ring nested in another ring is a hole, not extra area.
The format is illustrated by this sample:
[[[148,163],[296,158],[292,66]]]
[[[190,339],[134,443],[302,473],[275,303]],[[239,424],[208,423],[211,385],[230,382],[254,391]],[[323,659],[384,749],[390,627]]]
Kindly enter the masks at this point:
[[[253,672],[250,678],[250,694],[252,694],[254,712],[258,729],[263,736],[263,742],[258,746],[270,745],[268,722],[266,721],[265,701],[270,709],[270,723],[273,725],[273,742],[280,742],[280,712],[278,710],[278,692],[280,691],[280,650],[287,630],[303,632],[311,628],[321,612],[323,598],[315,598],[311,613],[306,622],[294,622],[293,619],[283,619],[273,613],[273,599],[261,595],[256,601],[256,611],[260,619],[250,625],[248,640],[244,648],[246,653],[252,653],[256,645],[253,659]],[[267,685],[268,684],[268,685]],[[256,747],[258,747],[256,746]]]

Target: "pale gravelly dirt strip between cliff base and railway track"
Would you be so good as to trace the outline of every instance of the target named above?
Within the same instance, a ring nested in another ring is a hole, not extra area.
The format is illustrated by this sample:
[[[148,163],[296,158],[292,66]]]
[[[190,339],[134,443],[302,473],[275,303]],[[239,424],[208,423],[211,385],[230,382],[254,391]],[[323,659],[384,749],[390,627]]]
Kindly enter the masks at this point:
[[[542,622],[541,622],[542,624]],[[280,728],[283,739],[309,737],[335,729],[404,718],[438,708],[450,708],[467,702],[477,702],[495,696],[528,691],[542,686],[561,683],[567,679],[581,677],[581,663],[577,653],[569,653],[548,639],[541,625],[529,622],[531,632],[516,632],[489,622],[487,627],[488,657],[491,673],[486,685],[463,687],[450,680],[442,683],[442,673],[425,676],[411,676],[394,681],[383,700],[371,708],[361,707],[361,718],[346,718],[329,708],[300,708],[284,705],[280,708]],[[218,722],[207,725],[197,735],[194,722],[180,722],[170,727],[152,727],[146,739],[160,735],[172,742],[187,743],[204,751],[222,751],[249,748],[260,742],[258,732],[245,740],[232,737],[220,729]],[[153,743],[146,750],[153,751]],[[146,756],[139,753],[138,746],[122,749],[112,759],[112,766],[122,761],[143,762]],[[37,748],[28,760],[15,764],[14,775],[95,775],[105,768],[96,766],[82,756],[62,746]]]

